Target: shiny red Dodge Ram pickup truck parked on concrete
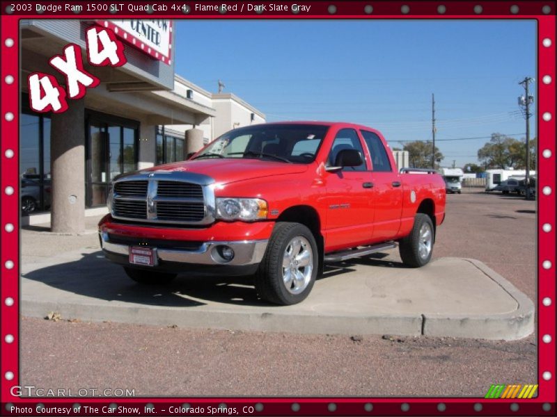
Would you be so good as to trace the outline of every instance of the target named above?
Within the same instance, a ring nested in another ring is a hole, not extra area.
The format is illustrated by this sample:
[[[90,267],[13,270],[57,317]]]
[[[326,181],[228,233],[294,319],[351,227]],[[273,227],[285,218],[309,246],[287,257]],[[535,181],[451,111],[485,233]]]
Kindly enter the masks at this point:
[[[131,279],[253,275],[262,300],[287,305],[307,297],[324,263],[398,245],[405,264],[425,265],[445,183],[432,170],[398,172],[375,129],[282,122],[234,129],[188,161],[123,174],[107,204],[100,244]]]

